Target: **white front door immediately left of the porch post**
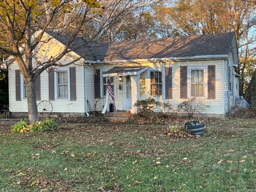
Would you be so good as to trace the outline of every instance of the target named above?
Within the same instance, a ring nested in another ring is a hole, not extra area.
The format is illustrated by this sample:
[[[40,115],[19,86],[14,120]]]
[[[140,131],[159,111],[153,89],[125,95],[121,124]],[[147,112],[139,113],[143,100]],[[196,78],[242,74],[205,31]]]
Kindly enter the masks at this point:
[[[131,90],[131,76],[124,76],[123,89],[123,108],[124,110],[131,109],[132,105],[132,90]]]

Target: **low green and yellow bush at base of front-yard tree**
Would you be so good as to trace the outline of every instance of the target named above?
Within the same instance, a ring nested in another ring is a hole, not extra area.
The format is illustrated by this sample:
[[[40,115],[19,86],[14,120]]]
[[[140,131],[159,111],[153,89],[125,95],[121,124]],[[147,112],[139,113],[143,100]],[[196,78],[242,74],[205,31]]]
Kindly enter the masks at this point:
[[[34,132],[34,131],[55,131],[59,125],[52,119],[44,119],[36,123],[30,124],[27,121],[20,121],[11,127],[12,132]]]

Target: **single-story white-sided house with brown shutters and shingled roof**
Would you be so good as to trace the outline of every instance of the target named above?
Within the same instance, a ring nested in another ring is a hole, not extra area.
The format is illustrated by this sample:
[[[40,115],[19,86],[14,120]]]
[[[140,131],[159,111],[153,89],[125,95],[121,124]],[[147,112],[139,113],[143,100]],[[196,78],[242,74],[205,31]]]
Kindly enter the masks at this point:
[[[65,35],[45,33],[44,38],[49,37],[49,43],[38,45],[41,49],[36,57],[42,62],[68,41]],[[81,44],[84,41],[77,38],[72,48]],[[116,109],[131,109],[132,113],[136,113],[132,106],[137,100],[149,97],[174,106],[199,97],[210,106],[204,114],[224,116],[238,95],[234,33],[94,43],[74,49],[60,62],[81,56],[74,64],[44,71],[37,78],[37,100],[50,101],[53,113],[84,115],[89,110],[101,110],[107,77]],[[144,87],[140,81],[145,82]],[[9,63],[9,82],[12,115],[26,113],[26,85],[15,60]]]

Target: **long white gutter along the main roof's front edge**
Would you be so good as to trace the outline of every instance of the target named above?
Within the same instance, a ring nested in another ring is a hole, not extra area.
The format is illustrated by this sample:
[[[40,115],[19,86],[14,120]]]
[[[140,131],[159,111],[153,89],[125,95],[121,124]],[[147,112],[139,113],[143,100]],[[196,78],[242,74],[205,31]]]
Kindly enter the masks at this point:
[[[106,61],[91,61],[85,60],[85,63],[93,63],[93,64],[106,64],[106,63],[134,63],[134,62],[163,62],[163,61],[188,61],[188,60],[212,60],[212,59],[227,59],[228,54],[223,55],[198,55],[191,57],[170,57],[170,58],[149,58],[149,59],[122,59],[122,60],[106,60]]]

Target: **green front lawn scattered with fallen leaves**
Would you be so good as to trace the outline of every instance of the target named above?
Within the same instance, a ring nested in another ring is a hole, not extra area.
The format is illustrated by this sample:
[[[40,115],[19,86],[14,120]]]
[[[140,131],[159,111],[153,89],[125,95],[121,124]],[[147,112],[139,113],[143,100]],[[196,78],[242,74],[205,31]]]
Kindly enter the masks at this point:
[[[0,191],[255,191],[255,119],[208,123],[207,136],[168,126],[63,124],[11,133],[0,125]]]

